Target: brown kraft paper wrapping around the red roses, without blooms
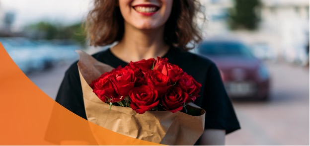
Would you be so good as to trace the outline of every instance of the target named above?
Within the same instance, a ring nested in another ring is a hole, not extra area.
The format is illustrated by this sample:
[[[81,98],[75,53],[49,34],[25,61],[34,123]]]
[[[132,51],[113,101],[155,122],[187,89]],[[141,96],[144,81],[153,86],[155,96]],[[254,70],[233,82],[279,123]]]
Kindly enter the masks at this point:
[[[101,101],[88,85],[101,74],[112,71],[83,51],[77,51],[79,76],[87,120],[111,131],[164,145],[194,145],[204,131],[205,111],[193,103],[183,112],[148,111],[138,114],[130,107]],[[95,131],[92,129],[92,131]]]

